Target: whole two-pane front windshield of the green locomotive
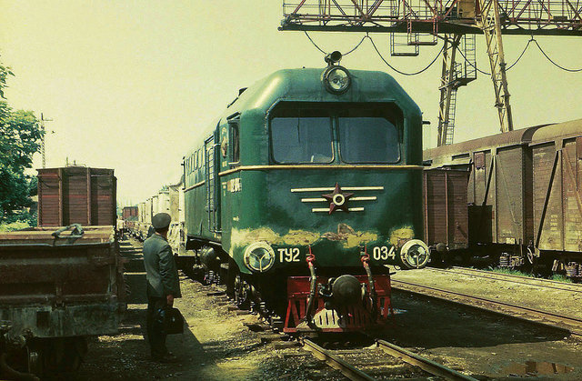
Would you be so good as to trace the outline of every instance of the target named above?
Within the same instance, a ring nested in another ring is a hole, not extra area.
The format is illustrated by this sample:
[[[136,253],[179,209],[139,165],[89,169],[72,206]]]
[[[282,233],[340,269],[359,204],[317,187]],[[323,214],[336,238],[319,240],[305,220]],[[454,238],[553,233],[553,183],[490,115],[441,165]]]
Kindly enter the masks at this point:
[[[319,104],[321,106],[321,104]],[[271,151],[278,164],[386,164],[400,160],[400,114],[394,105],[326,108],[283,103],[271,113]],[[339,155],[337,155],[339,154]]]

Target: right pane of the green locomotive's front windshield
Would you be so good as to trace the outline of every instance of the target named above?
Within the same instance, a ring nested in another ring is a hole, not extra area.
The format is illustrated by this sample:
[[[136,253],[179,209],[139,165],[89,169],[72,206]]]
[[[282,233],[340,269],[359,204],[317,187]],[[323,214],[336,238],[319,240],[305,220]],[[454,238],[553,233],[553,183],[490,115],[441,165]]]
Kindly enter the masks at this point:
[[[398,131],[384,117],[338,118],[339,150],[346,163],[396,163],[400,159]]]

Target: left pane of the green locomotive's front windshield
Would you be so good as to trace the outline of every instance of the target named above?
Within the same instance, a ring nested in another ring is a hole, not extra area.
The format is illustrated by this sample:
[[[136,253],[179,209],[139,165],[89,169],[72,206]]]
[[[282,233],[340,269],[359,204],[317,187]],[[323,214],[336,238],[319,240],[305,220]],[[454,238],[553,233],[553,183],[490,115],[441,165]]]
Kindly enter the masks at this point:
[[[334,158],[329,116],[279,116],[271,120],[276,163],[331,163]]]

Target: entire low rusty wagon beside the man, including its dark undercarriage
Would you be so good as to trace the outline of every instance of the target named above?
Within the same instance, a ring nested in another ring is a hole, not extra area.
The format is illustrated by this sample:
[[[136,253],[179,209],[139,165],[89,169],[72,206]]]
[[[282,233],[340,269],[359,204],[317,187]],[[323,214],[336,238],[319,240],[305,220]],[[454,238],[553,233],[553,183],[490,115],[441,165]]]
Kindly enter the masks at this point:
[[[22,357],[25,369],[37,375],[75,368],[85,356],[87,336],[117,333],[125,286],[114,226],[74,227],[0,235],[5,371]]]

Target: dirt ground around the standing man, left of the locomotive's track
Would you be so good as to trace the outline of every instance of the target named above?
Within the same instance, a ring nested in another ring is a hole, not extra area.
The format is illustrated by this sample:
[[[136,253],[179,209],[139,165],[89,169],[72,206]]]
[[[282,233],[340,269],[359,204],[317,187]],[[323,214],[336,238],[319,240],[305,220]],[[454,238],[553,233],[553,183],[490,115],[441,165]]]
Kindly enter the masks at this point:
[[[149,358],[142,336],[146,305],[133,305],[125,323],[137,325],[118,336],[100,336],[89,344],[85,363],[73,375],[76,380],[342,380],[298,347],[276,349],[276,342],[262,343],[265,332],[253,332],[245,324],[260,323],[256,316],[228,311],[221,296],[207,296],[207,286],[181,277],[181,299],[176,307],[186,318],[183,335],[168,336],[167,347],[178,357],[176,364],[158,364]],[[62,377],[59,377],[62,378]]]

